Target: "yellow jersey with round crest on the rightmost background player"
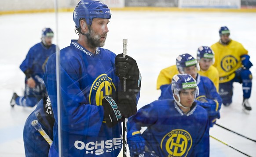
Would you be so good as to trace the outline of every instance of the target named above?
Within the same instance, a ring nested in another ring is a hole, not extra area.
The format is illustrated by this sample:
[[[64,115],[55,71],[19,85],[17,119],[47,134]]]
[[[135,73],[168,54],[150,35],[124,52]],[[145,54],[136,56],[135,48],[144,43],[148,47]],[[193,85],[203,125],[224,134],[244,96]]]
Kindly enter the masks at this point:
[[[228,45],[217,42],[211,48],[215,53],[213,66],[219,71],[219,83],[232,80],[235,76],[234,72],[242,66],[241,56],[248,54],[248,51],[241,43],[234,40],[231,40]]]

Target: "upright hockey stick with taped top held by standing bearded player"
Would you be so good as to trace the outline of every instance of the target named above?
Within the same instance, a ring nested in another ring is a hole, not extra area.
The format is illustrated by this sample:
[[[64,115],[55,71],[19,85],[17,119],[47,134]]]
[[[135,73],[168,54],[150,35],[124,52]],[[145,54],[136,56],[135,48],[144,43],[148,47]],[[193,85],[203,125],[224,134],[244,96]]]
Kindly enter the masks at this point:
[[[125,55],[127,54],[127,40],[128,39],[123,39],[123,55],[125,57]],[[126,78],[124,78],[124,82],[123,82],[124,86],[124,92],[126,91]],[[127,155],[127,118],[124,118],[124,122],[123,122],[123,157],[126,157]]]

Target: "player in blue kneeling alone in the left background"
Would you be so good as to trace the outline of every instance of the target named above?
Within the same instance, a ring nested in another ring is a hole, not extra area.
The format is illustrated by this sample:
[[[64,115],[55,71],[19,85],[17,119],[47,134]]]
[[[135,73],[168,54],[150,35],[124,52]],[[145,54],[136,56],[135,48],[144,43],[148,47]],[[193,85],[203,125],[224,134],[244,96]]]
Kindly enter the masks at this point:
[[[44,28],[42,41],[29,49],[25,60],[20,65],[20,69],[26,75],[24,96],[13,93],[11,107],[14,107],[15,104],[33,107],[44,96],[48,96],[42,77],[48,57],[56,51],[56,45],[51,43],[53,36],[54,33],[50,28]]]

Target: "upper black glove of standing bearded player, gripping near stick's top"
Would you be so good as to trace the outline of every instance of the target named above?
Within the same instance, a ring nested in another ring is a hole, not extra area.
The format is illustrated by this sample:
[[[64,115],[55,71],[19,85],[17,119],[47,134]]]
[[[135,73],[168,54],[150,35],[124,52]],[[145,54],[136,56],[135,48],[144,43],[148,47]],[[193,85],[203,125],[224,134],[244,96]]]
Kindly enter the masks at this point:
[[[141,75],[138,65],[132,57],[118,54],[115,59],[115,74],[119,77],[121,85],[126,79],[126,90],[128,92],[139,93],[141,86]]]

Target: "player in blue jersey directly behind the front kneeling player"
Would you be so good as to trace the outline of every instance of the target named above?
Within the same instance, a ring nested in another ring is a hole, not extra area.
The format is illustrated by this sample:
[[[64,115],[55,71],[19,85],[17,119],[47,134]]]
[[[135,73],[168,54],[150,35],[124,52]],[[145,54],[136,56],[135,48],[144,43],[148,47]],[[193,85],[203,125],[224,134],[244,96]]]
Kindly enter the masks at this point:
[[[208,112],[209,126],[212,127],[216,118],[220,118],[219,110],[222,100],[213,82],[208,78],[197,73],[197,60],[190,54],[181,54],[176,58],[176,66],[181,74],[189,74],[197,80],[199,95],[196,98],[198,105],[204,107]],[[159,99],[172,99],[172,85],[161,86],[161,96]]]

